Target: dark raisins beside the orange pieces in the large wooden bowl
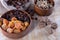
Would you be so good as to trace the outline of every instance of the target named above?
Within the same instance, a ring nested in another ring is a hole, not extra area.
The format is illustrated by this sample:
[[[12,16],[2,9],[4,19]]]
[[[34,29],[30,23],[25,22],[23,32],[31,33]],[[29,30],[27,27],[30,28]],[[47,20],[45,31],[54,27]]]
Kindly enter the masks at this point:
[[[22,22],[27,21],[30,23],[30,18],[28,14],[20,10],[11,10],[1,16],[1,18],[5,18],[9,21],[11,21],[12,17],[16,17],[18,20],[21,20]]]

